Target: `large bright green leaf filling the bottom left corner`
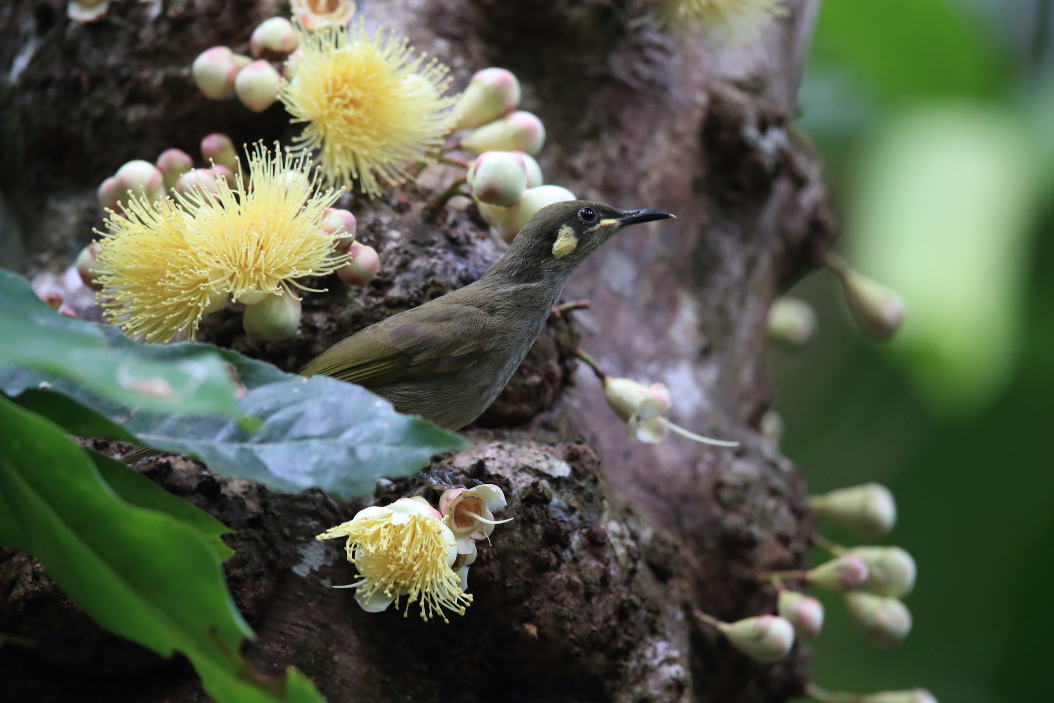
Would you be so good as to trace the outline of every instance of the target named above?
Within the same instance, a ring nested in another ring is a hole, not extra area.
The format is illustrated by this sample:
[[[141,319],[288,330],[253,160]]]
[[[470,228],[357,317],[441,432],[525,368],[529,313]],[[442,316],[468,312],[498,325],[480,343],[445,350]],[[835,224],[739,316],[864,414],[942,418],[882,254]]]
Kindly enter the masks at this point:
[[[219,703],[321,701],[295,670],[266,681],[238,655],[252,630],[195,529],[118,497],[61,429],[2,397],[0,426],[0,542],[39,559],[106,629],[183,652]]]

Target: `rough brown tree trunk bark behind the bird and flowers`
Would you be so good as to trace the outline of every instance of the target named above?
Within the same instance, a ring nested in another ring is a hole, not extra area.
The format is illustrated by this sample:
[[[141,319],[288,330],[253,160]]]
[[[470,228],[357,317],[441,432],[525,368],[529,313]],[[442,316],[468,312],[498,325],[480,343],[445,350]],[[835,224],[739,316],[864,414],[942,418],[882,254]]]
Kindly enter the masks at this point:
[[[281,494],[161,455],[137,469],[237,530],[227,564],[265,670],[295,664],[346,701],[783,701],[807,681],[807,648],[762,666],[686,617],[773,611],[759,569],[804,564],[812,531],[801,475],[759,431],[770,392],[765,314],[813,266],[831,227],[819,167],[789,125],[818,2],[794,0],[755,40],[721,46],[633,22],[631,0],[364,0],[368,26],[407,34],[452,69],[457,87],[487,65],[512,70],[542,117],[547,182],[580,197],[676,213],[620,235],[572,277],[592,307],[552,320],[466,452],[436,457],[446,479],[497,483],[515,521],[481,548],[475,602],[449,625],[362,612],[339,545],[312,540],[364,502]],[[0,6],[0,257],[62,287],[101,226],[97,184],[125,160],[201,136],[295,134],[280,105],[253,115],[202,98],[193,58],[245,51],[277,0],[114,0],[79,25],[60,0]],[[364,290],[334,277],[309,296],[300,333],[254,345],[234,306],[200,338],[295,370],[333,341],[464,286],[501,255],[473,208],[423,206],[442,169],[373,201],[347,198],[382,272]],[[82,314],[83,292],[66,291]],[[663,382],[672,419],[742,442],[628,440],[575,344],[609,373]],[[562,391],[565,387],[566,392]],[[512,426],[520,426],[511,429]],[[483,427],[489,429],[482,429]],[[105,451],[118,448],[98,445]],[[389,501],[415,479],[380,482]],[[418,482],[419,483],[419,482]],[[0,548],[0,629],[35,650],[0,649],[5,701],[204,700],[186,663],[162,662],[99,630],[24,554]],[[60,672],[60,673],[57,673]]]

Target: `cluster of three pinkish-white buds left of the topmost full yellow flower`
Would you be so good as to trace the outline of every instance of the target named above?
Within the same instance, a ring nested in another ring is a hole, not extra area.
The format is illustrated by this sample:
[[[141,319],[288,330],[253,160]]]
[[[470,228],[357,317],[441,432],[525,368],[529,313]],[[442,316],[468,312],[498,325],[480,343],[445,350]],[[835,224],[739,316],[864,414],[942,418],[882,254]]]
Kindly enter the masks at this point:
[[[253,31],[249,45],[253,58],[227,46],[208,48],[194,59],[191,71],[207,98],[222,100],[237,95],[243,105],[259,113],[278,99],[281,74],[272,60],[281,65],[296,51],[296,32],[286,18],[272,17]]]

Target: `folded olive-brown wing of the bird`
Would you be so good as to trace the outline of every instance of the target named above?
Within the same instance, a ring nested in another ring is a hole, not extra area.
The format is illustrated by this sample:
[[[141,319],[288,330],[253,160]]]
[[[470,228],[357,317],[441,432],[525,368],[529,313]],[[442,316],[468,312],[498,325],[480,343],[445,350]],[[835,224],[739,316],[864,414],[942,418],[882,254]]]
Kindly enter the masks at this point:
[[[338,341],[300,369],[367,388],[464,369],[486,350],[491,315],[475,306],[425,305]]]

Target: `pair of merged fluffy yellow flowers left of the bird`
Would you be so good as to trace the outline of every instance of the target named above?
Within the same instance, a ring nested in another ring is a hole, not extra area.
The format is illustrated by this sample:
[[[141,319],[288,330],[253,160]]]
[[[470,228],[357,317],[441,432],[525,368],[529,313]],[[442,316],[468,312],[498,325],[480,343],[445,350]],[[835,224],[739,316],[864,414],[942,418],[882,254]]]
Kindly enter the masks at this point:
[[[193,339],[207,308],[228,295],[292,295],[296,279],[338,269],[338,237],[323,216],[339,197],[319,192],[304,158],[257,144],[249,183],[192,191],[157,202],[133,199],[111,213],[97,279],[106,318],[143,341]]]

